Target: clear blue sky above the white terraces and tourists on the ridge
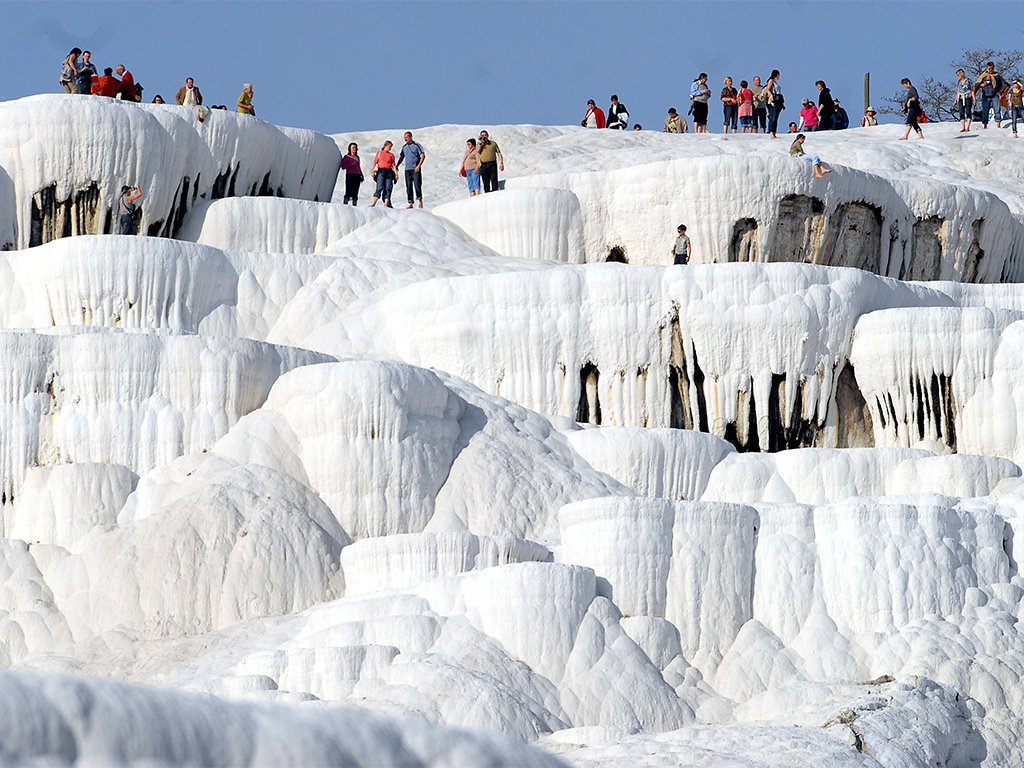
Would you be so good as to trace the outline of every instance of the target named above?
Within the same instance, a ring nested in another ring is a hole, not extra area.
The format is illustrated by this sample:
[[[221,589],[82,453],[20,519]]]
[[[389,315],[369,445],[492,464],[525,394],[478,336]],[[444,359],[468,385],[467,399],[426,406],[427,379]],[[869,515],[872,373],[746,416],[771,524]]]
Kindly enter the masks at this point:
[[[579,123],[617,93],[634,122],[714,86],[782,72],[797,119],[825,80],[852,117],[899,79],[950,77],[963,47],[1024,46],[1019,2],[3,2],[0,100],[58,92],[75,45],[125,63],[145,100],[191,75],[207,103],[244,81],[267,120],[340,133],[441,123]],[[878,104],[876,104],[878,105]],[[713,110],[713,130],[720,130]]]

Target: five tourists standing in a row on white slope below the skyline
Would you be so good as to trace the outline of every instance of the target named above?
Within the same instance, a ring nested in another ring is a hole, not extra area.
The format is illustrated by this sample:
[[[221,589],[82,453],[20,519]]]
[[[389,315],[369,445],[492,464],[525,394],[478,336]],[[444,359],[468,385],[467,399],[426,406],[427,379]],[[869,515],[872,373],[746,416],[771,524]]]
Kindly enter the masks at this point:
[[[397,154],[392,151],[394,142],[388,140],[374,155],[370,175],[376,187],[371,208],[380,202],[387,208],[393,208],[391,196],[402,164],[406,166],[406,194],[409,199],[407,208],[423,208],[423,163],[427,159],[427,152],[423,144],[413,138],[412,131],[406,131],[402,139],[403,143]],[[341,170],[345,173],[343,204],[354,206],[358,203],[359,186],[366,180],[359,159],[359,145],[354,141],[348,144],[348,150],[341,158]],[[481,187],[485,193],[498,191],[498,172],[504,170],[505,158],[498,144],[490,140],[487,131],[481,130],[479,138],[466,139],[466,152],[462,157],[459,174],[466,179],[470,197],[479,195]]]

